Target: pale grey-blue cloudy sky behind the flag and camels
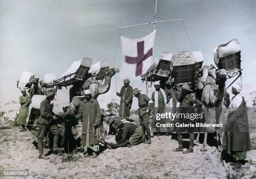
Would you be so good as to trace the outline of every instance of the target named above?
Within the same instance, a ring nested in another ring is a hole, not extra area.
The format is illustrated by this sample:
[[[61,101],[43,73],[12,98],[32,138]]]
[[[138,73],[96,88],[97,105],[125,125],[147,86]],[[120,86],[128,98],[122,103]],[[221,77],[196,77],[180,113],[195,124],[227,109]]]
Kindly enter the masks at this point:
[[[0,105],[18,101],[16,83],[24,71],[41,80],[44,73],[58,78],[82,57],[93,63],[108,58],[110,67],[120,68],[120,35],[143,37],[153,25],[117,28],[153,22],[154,11],[155,0],[0,0]],[[237,38],[243,69],[238,82],[251,104],[249,93],[256,90],[256,0],[158,0],[157,16],[158,21],[182,19],[184,26],[181,21],[156,25],[154,57],[160,52],[201,51],[204,65],[214,65],[213,49]],[[98,97],[100,106],[118,99],[115,93],[122,85],[117,74],[110,91]],[[131,86],[146,92],[141,80],[131,81]],[[68,100],[68,89],[57,96]],[[137,105],[134,99],[133,108]]]

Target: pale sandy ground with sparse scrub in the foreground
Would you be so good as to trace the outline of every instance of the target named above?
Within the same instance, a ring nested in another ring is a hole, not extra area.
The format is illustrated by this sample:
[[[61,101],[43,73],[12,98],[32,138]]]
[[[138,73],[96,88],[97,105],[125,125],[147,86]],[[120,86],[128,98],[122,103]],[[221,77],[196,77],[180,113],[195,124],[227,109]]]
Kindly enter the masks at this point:
[[[58,107],[61,107],[59,103]],[[51,154],[49,160],[38,159],[38,151],[32,144],[36,137],[30,132],[20,132],[10,120],[15,118],[19,104],[9,103],[0,107],[6,113],[0,117],[0,170],[29,170],[28,178],[256,178],[256,150],[247,154],[248,163],[239,171],[220,162],[216,147],[194,153],[172,152],[178,145],[174,136],[152,137],[152,144],[140,144],[132,148],[107,149],[96,159],[73,155],[65,162],[66,154]],[[62,107],[61,107],[62,109]],[[9,117],[9,120],[5,120]],[[8,122],[9,121],[9,122]],[[251,132],[256,140],[256,132]],[[187,144],[188,139],[184,139]],[[254,141],[255,142],[255,141]],[[44,149],[47,153],[49,149]],[[8,177],[11,178],[11,177]],[[20,177],[17,177],[20,178]]]

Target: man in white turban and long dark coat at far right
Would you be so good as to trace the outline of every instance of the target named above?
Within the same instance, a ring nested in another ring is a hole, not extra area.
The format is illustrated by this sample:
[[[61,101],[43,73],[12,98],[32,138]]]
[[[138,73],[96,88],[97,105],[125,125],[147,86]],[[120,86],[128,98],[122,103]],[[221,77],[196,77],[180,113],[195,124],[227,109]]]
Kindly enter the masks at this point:
[[[232,93],[235,96],[229,106],[221,155],[222,160],[233,162],[235,169],[245,163],[246,153],[251,150],[247,107],[241,90],[242,86],[239,83],[232,86]]]

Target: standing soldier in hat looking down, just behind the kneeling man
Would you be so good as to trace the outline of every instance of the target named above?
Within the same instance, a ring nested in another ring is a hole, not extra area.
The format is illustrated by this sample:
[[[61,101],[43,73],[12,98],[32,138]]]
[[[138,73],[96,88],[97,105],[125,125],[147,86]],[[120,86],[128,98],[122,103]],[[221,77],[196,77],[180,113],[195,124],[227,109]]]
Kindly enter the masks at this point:
[[[146,134],[148,137],[148,144],[151,144],[150,129],[149,129],[149,116],[153,108],[154,102],[146,95],[141,94],[138,88],[133,89],[133,95],[138,98],[138,106],[136,113],[139,115],[140,125],[143,132],[143,139],[145,140]],[[148,105],[149,104],[149,105]]]

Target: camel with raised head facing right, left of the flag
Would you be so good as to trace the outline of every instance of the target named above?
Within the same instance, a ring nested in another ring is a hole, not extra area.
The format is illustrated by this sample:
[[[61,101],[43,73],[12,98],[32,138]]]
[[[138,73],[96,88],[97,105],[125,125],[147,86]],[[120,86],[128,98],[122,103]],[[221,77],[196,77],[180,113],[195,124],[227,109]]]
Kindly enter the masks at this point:
[[[85,82],[74,84],[69,90],[69,101],[72,102],[73,97],[81,96],[85,89],[92,91],[92,97],[97,99],[100,94],[105,94],[110,89],[111,78],[118,73],[118,68],[106,68],[105,80],[103,84],[100,84],[94,77],[89,77]]]

